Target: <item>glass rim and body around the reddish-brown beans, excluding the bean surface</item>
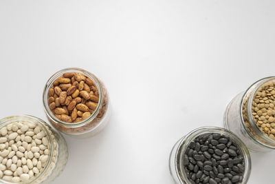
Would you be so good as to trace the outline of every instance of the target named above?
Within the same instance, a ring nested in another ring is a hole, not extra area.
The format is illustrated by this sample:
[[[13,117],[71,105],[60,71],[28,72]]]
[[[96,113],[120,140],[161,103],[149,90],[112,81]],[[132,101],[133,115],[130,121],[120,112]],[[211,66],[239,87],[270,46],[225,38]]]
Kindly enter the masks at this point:
[[[98,90],[98,105],[96,109],[87,119],[77,123],[67,123],[65,121],[61,121],[52,113],[47,103],[47,94],[50,88],[52,88],[54,81],[63,76],[63,74],[71,72],[80,73],[89,77],[94,82]],[[96,76],[94,76],[94,74],[80,68],[66,68],[53,74],[45,84],[43,91],[43,105],[47,119],[57,130],[77,138],[94,136],[100,132],[109,121],[109,96],[104,84]]]

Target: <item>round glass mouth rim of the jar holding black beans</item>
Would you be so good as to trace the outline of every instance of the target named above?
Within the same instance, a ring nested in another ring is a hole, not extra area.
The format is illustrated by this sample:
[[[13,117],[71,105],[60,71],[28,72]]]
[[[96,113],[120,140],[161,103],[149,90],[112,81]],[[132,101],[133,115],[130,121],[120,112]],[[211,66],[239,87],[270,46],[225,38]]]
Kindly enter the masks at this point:
[[[184,138],[179,143],[179,146],[177,147],[176,153],[175,153],[175,169],[177,171],[177,177],[182,183],[188,183],[188,176],[184,170],[183,158],[184,153],[186,152],[186,149],[190,142],[194,140],[197,136],[201,134],[208,134],[208,133],[221,133],[225,136],[229,136],[232,141],[236,143],[236,145],[239,147],[239,150],[243,154],[243,159],[245,162],[245,172],[243,173],[243,182],[247,183],[248,178],[250,176],[251,172],[251,158],[250,158],[250,152],[248,151],[248,148],[246,145],[237,137],[233,132],[230,132],[229,130],[226,130],[222,127],[199,127],[195,130],[192,130],[189,134],[186,134]]]

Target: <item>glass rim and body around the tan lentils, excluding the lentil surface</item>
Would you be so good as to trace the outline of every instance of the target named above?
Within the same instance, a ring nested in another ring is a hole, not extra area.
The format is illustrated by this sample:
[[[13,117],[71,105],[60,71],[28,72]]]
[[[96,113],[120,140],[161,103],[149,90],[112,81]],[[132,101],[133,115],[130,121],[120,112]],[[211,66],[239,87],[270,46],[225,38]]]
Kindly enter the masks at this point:
[[[268,152],[275,149],[275,140],[259,129],[252,116],[252,103],[256,92],[263,84],[274,81],[274,76],[256,81],[248,90],[236,95],[225,110],[225,128],[239,136],[253,152]]]

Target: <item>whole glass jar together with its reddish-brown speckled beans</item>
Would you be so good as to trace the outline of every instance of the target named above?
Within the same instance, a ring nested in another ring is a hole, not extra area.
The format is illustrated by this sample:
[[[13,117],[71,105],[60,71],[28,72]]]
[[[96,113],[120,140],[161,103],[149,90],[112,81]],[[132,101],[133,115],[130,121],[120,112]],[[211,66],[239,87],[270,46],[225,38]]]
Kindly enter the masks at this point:
[[[77,138],[94,136],[109,121],[109,96],[94,74],[80,68],[66,68],[45,84],[43,105],[50,123]]]

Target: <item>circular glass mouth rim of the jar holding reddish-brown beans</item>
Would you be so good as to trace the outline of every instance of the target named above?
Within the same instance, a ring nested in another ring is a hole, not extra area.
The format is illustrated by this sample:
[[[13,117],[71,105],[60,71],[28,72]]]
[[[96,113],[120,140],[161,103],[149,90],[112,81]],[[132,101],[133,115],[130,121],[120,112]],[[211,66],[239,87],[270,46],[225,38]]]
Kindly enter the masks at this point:
[[[58,119],[56,116],[54,116],[54,114],[52,113],[52,111],[50,110],[49,105],[47,104],[47,94],[50,90],[50,88],[52,87],[54,81],[56,79],[58,79],[60,76],[62,76],[64,73],[67,72],[78,72],[80,74],[84,74],[86,76],[89,76],[89,78],[91,78],[92,81],[94,81],[96,88],[98,88],[98,106],[96,107],[96,110],[94,110],[93,114],[91,114],[91,116],[89,116],[87,119],[83,120],[83,121],[79,121],[77,123],[67,123],[65,121],[61,121],[60,119]],[[56,123],[60,123],[62,125],[65,125],[67,127],[80,127],[81,125],[89,122],[89,121],[93,121],[96,116],[98,115],[98,112],[100,110],[100,105],[102,104],[102,88],[100,85],[100,81],[98,81],[98,79],[96,78],[96,76],[94,76],[94,74],[91,74],[91,72],[88,72],[87,70],[83,70],[81,68],[65,68],[63,70],[59,70],[58,72],[54,73],[50,79],[47,80],[44,90],[43,90],[43,107],[44,107],[44,111],[46,112],[47,116],[50,117],[50,119]],[[98,125],[96,125],[93,129],[95,129]]]

